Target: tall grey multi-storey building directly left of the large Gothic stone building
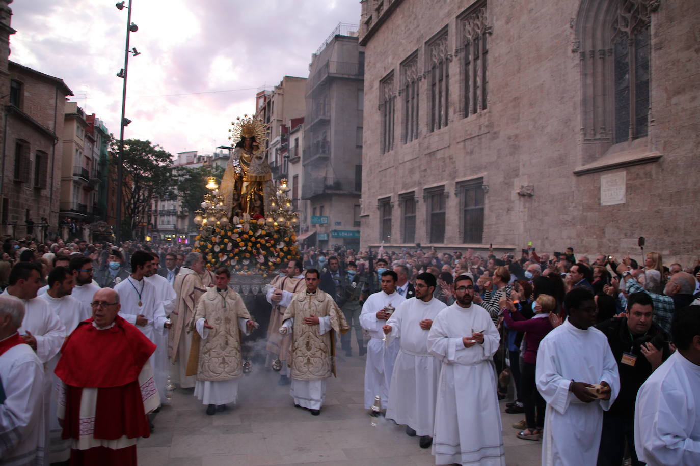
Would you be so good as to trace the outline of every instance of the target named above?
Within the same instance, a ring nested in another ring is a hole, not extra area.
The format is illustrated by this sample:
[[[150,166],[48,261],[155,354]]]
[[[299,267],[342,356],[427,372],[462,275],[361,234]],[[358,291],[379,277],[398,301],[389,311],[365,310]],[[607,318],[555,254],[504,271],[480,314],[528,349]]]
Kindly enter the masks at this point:
[[[357,29],[339,24],[309,66],[301,198],[310,224],[303,238],[322,248],[360,244],[365,54]]]

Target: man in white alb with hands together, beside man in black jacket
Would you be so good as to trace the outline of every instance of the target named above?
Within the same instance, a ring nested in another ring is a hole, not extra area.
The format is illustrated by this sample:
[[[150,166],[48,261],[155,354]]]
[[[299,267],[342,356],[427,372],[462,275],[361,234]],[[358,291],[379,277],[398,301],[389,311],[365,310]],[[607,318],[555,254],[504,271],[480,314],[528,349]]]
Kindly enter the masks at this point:
[[[593,293],[574,288],[564,297],[568,317],[540,342],[535,382],[547,402],[542,465],[594,465],[603,410],[619,393],[617,362],[608,338],[594,328]]]

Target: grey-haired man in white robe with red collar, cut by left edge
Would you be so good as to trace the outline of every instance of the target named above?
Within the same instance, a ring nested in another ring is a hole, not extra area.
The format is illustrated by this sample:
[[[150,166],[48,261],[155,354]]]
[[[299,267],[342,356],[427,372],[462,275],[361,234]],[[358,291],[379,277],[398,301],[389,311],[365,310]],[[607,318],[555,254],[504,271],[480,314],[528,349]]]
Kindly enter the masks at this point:
[[[25,305],[0,296],[0,463],[38,464],[43,458],[43,364],[18,328]]]

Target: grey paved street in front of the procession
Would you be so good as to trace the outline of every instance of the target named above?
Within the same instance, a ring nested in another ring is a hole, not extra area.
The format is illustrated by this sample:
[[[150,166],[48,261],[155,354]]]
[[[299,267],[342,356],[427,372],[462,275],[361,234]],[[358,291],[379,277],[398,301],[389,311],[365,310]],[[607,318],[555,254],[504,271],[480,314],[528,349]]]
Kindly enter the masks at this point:
[[[357,354],[357,349],[353,349]],[[363,407],[365,357],[339,356],[320,416],[293,407],[288,386],[260,365],[241,379],[239,402],[214,416],[191,390],[178,389],[173,404],[155,418],[155,432],[138,445],[141,466],[229,465],[434,465],[430,449],[404,427],[370,426]],[[500,404],[505,409],[505,401]],[[540,442],[515,437],[510,427],[524,416],[503,414],[508,465],[539,465]]]

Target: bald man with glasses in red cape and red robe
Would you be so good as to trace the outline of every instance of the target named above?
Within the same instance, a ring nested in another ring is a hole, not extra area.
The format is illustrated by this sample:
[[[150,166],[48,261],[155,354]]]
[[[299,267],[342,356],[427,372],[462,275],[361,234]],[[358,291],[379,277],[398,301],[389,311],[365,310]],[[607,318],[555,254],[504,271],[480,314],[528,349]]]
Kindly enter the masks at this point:
[[[119,309],[116,291],[97,291],[92,318],[66,339],[56,365],[57,414],[63,438],[71,439],[71,465],[136,465],[137,439],[151,435],[146,416],[160,405],[148,363],[155,344]]]

